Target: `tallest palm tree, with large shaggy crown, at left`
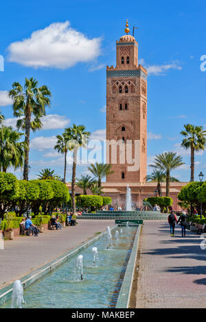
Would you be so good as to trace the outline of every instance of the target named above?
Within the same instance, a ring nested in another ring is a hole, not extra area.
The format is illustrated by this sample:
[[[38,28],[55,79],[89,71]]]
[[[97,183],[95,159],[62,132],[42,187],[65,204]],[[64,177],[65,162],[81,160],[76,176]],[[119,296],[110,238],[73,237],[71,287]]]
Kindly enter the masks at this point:
[[[50,106],[51,92],[47,86],[38,87],[36,79],[25,78],[25,85],[22,87],[18,82],[12,84],[9,97],[13,99],[14,116],[20,119],[16,122],[18,129],[25,130],[25,160],[23,167],[23,179],[28,179],[29,152],[30,152],[30,130],[35,132],[41,129],[41,117],[45,116],[45,107]]]

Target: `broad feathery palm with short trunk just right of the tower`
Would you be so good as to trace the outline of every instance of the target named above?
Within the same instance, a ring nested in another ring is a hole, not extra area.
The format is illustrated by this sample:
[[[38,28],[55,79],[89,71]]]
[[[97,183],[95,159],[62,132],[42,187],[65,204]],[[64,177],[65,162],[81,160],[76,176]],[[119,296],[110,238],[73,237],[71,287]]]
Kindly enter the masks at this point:
[[[156,155],[154,164],[150,164],[152,168],[159,169],[165,172],[166,175],[166,197],[170,194],[170,171],[179,168],[184,162],[182,162],[181,156],[176,156],[174,152],[164,152]]]

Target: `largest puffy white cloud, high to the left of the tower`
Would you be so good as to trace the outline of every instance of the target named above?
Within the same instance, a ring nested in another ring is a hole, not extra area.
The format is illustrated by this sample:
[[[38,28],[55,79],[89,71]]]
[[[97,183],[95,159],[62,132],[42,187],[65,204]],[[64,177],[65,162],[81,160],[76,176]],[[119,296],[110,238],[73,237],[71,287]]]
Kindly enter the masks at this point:
[[[30,38],[12,42],[10,62],[34,68],[67,69],[78,62],[91,62],[100,55],[101,38],[89,39],[65,23],[52,23],[33,32]]]

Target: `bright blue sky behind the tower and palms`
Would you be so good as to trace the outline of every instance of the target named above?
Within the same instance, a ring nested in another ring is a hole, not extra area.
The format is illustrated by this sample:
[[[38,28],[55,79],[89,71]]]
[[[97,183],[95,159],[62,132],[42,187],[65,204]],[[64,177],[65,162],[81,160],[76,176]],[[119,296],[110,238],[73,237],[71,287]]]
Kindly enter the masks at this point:
[[[128,18],[130,30],[139,27],[139,60],[149,71],[148,163],[155,154],[176,151],[185,165],[172,175],[188,181],[190,151],[180,147],[179,133],[187,123],[206,128],[206,72],[200,69],[201,55],[206,54],[205,12],[205,1],[1,3],[0,55],[5,66],[0,72],[0,109],[5,124],[16,122],[5,99],[12,82],[23,84],[25,77],[35,77],[52,91],[44,127],[31,137],[30,177],[46,167],[62,175],[63,159],[54,154],[53,146],[65,126],[84,124],[93,138],[104,137],[106,65],[115,65],[115,42],[124,34]],[[200,171],[206,175],[205,153],[195,160],[198,179]],[[81,173],[87,173],[87,166],[78,166],[77,175]],[[16,175],[21,177],[21,172]]]

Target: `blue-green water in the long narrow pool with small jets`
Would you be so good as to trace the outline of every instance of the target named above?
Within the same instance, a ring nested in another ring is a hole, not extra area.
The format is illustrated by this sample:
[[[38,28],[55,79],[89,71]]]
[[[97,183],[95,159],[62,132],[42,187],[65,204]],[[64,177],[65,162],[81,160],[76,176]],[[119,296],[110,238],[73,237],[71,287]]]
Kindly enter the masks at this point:
[[[128,230],[129,229],[129,230]],[[113,227],[112,232],[115,233],[117,230],[117,225]],[[127,231],[126,231],[127,230]],[[139,230],[139,227],[138,227]],[[122,244],[121,247],[115,245],[115,249],[106,250],[106,245],[103,245],[102,248],[102,240],[105,241],[104,235],[106,232],[96,236],[89,242],[84,243],[78,249],[74,249],[70,251],[69,254],[65,254],[62,258],[54,261],[51,265],[47,265],[47,267],[43,267],[41,271],[34,272],[32,276],[29,278],[26,277],[21,280],[23,286],[25,288],[25,302],[27,308],[109,308],[115,307],[117,303],[117,291],[119,294],[119,290],[121,283],[119,282],[119,269],[122,273],[122,267],[126,269],[126,263],[124,259],[127,257],[130,259],[130,253],[132,251],[131,244],[134,242],[134,238],[136,239],[138,232],[137,227],[123,227],[123,237],[122,240],[120,238],[119,243]],[[113,234],[114,236],[114,234]],[[130,238],[130,236],[132,238]],[[126,245],[127,244],[127,245]],[[93,262],[93,253],[91,251],[91,247],[98,247],[100,262],[98,263],[98,267],[93,269],[88,268],[89,263]],[[134,248],[134,247],[133,247]],[[137,247],[135,247],[136,251]],[[73,284],[72,280],[72,262],[76,260],[74,256],[78,255],[81,251],[84,256],[84,264],[86,265],[85,278],[83,281],[78,281],[78,283]],[[114,258],[114,254],[117,254],[117,258]],[[91,257],[91,258],[90,258]],[[69,261],[67,261],[69,259]],[[89,260],[89,262],[88,262]],[[103,262],[101,262],[101,260]],[[113,262],[112,262],[113,261]],[[62,264],[62,262],[65,262]],[[118,265],[115,266],[116,262],[119,262]],[[62,264],[62,265],[61,265]],[[61,265],[57,271],[54,271],[59,265]],[[47,269],[50,267],[49,274],[41,275],[41,273],[48,273]],[[106,272],[106,278],[102,275],[103,272]],[[43,278],[41,278],[43,277]],[[59,277],[59,278],[58,278]],[[131,276],[130,276],[131,277]],[[111,278],[111,280],[110,280]],[[36,283],[34,283],[36,279]],[[39,280],[40,279],[40,280]],[[105,282],[106,281],[106,282]],[[30,284],[33,285],[29,286]],[[100,285],[99,285],[100,283]],[[101,284],[102,283],[102,284]],[[119,284],[120,283],[120,284]],[[122,284],[121,284],[122,285]],[[27,288],[27,286],[29,286]],[[99,287],[100,286],[100,287]],[[51,292],[52,291],[52,292]],[[4,293],[4,297],[2,294],[2,290],[0,291],[0,299],[1,302],[6,299],[6,292]],[[73,292],[73,293],[72,293]],[[90,293],[89,293],[90,292]],[[88,303],[85,303],[85,299],[82,302],[82,298],[84,298],[84,293],[87,295],[87,299],[89,299]],[[100,299],[96,299],[97,295],[101,295]],[[113,297],[113,294],[114,297]],[[75,299],[75,295],[77,295],[77,299]],[[8,296],[8,293],[7,293]],[[80,301],[79,301],[80,297]],[[124,292],[125,297],[125,292]],[[65,301],[65,299],[68,301]],[[71,301],[69,301],[71,299]],[[125,302],[126,303],[126,302]],[[9,303],[5,303],[3,307],[10,307]]]

